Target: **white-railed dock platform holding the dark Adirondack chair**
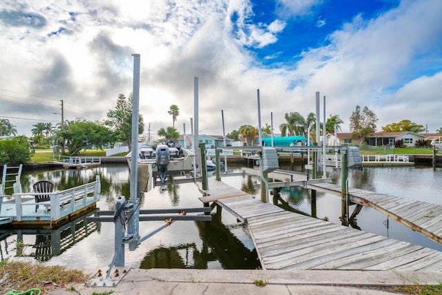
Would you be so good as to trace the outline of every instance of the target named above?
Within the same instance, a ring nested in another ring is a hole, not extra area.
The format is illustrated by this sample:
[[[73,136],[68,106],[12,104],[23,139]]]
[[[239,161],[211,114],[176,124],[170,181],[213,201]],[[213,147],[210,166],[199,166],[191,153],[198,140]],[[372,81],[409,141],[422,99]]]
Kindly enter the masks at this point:
[[[0,196],[0,220],[14,228],[54,228],[95,209],[101,184],[94,182],[52,193],[13,193]],[[50,200],[35,202],[35,195],[48,195]],[[39,206],[37,209],[37,205]]]

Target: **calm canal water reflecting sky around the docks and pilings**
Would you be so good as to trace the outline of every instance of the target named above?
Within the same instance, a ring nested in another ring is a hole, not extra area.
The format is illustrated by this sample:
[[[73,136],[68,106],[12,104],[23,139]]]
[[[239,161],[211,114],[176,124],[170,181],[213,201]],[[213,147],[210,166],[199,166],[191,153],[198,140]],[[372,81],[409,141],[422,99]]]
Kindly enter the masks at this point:
[[[230,167],[229,167],[230,168]],[[125,164],[103,165],[81,171],[39,171],[23,173],[23,191],[38,180],[50,180],[55,189],[66,189],[95,180],[100,175],[102,193],[97,207],[113,210],[119,196],[129,196],[129,170]],[[340,175],[332,175],[340,184]],[[430,167],[365,168],[349,174],[349,187],[367,189],[393,196],[442,204],[442,169]],[[256,178],[247,176],[223,178],[233,187],[260,198],[253,189]],[[142,209],[202,207],[195,184],[180,184],[160,191],[156,187],[141,200]],[[279,203],[311,214],[311,197],[307,189],[283,189]],[[317,194],[316,216],[340,224],[340,198],[327,193]],[[140,235],[160,227],[164,222],[140,222]],[[412,242],[442,251],[442,245],[388,220],[374,209],[364,208],[357,225],[363,231]],[[0,231],[0,258],[27,256],[47,265],[66,265],[81,269],[106,268],[113,258],[113,222],[75,222],[55,230]],[[19,242],[17,242],[19,240]],[[23,242],[20,242],[20,241]],[[126,267],[256,269],[260,263],[253,242],[230,213],[213,210],[211,222],[177,221],[142,242],[135,251],[125,252]]]

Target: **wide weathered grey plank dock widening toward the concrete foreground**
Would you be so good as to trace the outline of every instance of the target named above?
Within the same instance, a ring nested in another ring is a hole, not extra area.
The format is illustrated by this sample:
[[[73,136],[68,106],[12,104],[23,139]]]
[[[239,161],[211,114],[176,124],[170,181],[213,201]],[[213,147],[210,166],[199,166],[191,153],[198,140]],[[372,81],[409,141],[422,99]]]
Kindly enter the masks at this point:
[[[209,180],[209,196],[245,222],[263,269],[442,272],[442,252],[292,213]],[[231,193],[233,198],[227,198]]]

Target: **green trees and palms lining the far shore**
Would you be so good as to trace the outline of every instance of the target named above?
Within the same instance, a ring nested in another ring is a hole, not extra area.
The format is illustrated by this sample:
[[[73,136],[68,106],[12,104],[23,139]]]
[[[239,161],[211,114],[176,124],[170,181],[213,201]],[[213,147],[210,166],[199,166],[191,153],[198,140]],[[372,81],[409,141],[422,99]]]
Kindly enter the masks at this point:
[[[113,147],[117,142],[123,142],[128,145],[131,150],[131,133],[132,133],[132,94],[126,97],[119,94],[117,103],[114,109],[111,109],[106,114],[107,118],[101,122],[91,122],[83,118],[77,118],[73,121],[66,120],[63,124],[39,122],[32,125],[30,140],[33,142],[35,148],[48,148],[49,146],[61,146],[61,153],[66,153],[65,147],[68,149],[68,155],[78,155],[81,150],[102,149],[104,146]],[[161,128],[157,131],[157,135],[163,138],[172,138],[177,140],[180,133],[175,129],[175,122],[180,115],[180,109],[177,105],[172,104],[168,111],[172,117],[172,126]],[[298,112],[290,112],[285,114],[285,122],[280,124],[279,131],[282,136],[302,135],[304,137],[311,137],[316,142],[316,116],[314,113],[309,113],[303,117]],[[356,106],[352,115],[349,117],[349,129],[351,137],[358,140],[359,144],[363,144],[366,138],[372,133],[376,132],[376,122],[378,118],[376,114],[367,106],[361,108]],[[144,132],[144,120],[142,115],[138,117],[139,129],[138,133]],[[325,122],[326,133],[334,133],[334,131],[341,131],[344,121],[340,119],[339,115],[330,115]],[[422,133],[425,128],[410,120],[402,120],[398,123],[387,124],[383,126],[381,132],[400,132],[411,131],[414,133]],[[263,135],[271,134],[271,126],[265,124],[261,128]],[[323,135],[323,122],[320,122],[320,135]],[[442,135],[442,128],[437,129],[436,133]],[[227,134],[227,137],[233,141],[247,142],[247,145],[256,143],[258,136],[258,128],[251,125],[242,125],[238,130],[233,130]],[[0,119],[0,135],[9,136],[17,135],[17,128],[11,124],[8,119]],[[17,156],[12,151],[14,146],[19,146],[21,156]],[[26,151],[25,151],[26,150]],[[14,156],[16,155],[16,156]],[[9,163],[11,158],[17,158],[14,164],[19,162],[28,162],[30,160],[29,142],[28,139],[22,135],[8,140],[0,140],[0,163]],[[12,161],[13,162],[13,161]]]

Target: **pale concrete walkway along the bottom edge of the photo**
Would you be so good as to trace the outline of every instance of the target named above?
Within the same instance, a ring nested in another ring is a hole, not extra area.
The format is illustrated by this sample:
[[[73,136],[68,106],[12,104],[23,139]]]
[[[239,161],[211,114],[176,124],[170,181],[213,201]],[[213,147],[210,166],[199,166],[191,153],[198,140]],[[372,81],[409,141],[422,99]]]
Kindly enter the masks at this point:
[[[429,272],[130,269],[119,280],[93,278],[75,290],[66,286],[49,294],[395,294],[389,287],[441,282],[442,274]]]

